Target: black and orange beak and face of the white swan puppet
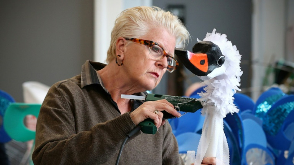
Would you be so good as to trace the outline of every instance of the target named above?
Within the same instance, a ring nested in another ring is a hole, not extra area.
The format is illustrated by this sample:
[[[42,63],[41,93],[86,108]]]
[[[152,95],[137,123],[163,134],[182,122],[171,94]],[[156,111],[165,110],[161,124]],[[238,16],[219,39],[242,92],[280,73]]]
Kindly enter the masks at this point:
[[[210,41],[201,41],[193,46],[193,53],[175,48],[175,54],[185,67],[197,76],[207,76],[225,62],[219,47]]]

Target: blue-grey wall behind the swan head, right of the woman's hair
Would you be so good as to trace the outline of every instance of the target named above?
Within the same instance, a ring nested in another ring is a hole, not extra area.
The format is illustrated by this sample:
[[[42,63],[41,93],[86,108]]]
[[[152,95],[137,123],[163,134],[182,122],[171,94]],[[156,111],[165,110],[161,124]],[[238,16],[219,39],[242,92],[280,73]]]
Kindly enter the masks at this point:
[[[206,33],[211,33],[214,28],[216,32],[226,34],[227,39],[237,46],[242,55],[241,61],[244,61],[244,64],[241,62],[243,71],[241,88],[250,87],[251,67],[245,62],[251,60],[251,1],[153,0],[153,5],[164,9],[167,9],[168,5],[185,6],[184,21],[192,36],[187,50],[192,51],[192,47],[197,43],[197,38],[203,40]],[[188,70],[186,74],[188,76],[185,81],[186,88],[192,82],[200,81]],[[168,93],[165,88],[166,79],[166,77],[163,78],[161,84],[154,89],[154,93]]]

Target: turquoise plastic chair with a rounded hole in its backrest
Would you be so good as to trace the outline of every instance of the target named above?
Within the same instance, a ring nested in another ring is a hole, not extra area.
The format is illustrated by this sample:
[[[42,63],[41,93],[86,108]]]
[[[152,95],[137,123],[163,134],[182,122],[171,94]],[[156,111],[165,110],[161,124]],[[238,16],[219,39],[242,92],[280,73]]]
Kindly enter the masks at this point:
[[[34,115],[38,118],[40,108],[41,104],[11,103],[3,119],[4,129],[11,139],[22,142],[34,140],[32,151],[35,145],[36,132],[28,129],[24,125],[24,118],[27,115]],[[31,159],[30,165],[33,165]]]

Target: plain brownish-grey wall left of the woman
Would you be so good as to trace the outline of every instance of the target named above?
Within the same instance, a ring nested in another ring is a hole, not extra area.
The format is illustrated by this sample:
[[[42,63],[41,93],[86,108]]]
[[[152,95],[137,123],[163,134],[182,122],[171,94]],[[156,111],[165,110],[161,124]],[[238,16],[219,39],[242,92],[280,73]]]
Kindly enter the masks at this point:
[[[93,59],[93,0],[0,0],[0,89],[23,102],[22,83],[53,85]]]

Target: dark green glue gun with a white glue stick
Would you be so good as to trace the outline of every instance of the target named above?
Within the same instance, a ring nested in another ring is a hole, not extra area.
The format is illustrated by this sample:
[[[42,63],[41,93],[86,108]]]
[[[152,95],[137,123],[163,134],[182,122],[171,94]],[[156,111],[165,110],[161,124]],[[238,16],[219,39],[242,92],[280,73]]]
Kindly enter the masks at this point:
[[[169,95],[162,95],[162,94],[147,94],[146,96],[136,96],[136,95],[126,95],[122,94],[121,98],[127,99],[134,99],[134,100],[145,100],[145,101],[156,101],[166,99],[172,105],[175,106],[177,111],[181,112],[196,112],[197,110],[201,109],[203,106],[201,102],[195,98],[186,98],[186,97],[179,97],[179,96],[169,96]],[[163,119],[171,119],[175,118],[174,115],[169,114],[166,111],[161,111],[163,113]],[[152,119],[145,119],[140,124],[141,131],[143,133],[148,134],[155,134],[157,132],[157,127],[154,125]]]

